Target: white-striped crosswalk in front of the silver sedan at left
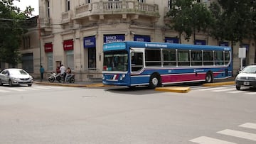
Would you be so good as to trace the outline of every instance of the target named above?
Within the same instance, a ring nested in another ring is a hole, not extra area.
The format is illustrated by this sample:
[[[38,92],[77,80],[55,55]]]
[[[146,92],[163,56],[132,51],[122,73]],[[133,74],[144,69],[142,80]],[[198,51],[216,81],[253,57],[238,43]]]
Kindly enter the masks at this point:
[[[32,87],[23,87],[23,86],[17,86],[17,87],[8,87],[8,86],[1,86],[0,87],[0,94],[6,94],[11,92],[26,92],[26,91],[38,91],[38,90],[50,90],[50,89],[64,89],[65,87],[57,87],[57,86],[43,86],[43,85],[37,85],[33,84]]]

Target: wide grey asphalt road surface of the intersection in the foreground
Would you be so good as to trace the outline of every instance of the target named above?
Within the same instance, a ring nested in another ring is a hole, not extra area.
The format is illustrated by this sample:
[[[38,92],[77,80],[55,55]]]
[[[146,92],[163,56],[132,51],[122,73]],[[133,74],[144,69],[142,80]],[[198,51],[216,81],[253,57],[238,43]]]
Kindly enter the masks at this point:
[[[256,91],[191,87],[0,87],[0,143],[256,141]],[[245,128],[247,127],[247,128]],[[249,127],[249,128],[248,128]]]

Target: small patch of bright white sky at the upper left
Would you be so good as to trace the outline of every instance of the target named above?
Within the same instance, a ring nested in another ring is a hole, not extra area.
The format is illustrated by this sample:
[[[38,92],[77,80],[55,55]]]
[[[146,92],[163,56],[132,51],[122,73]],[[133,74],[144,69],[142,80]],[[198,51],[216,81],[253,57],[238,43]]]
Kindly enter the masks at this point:
[[[24,11],[26,9],[26,6],[31,6],[33,9],[33,15],[37,16],[39,11],[39,6],[38,6],[38,0],[21,0],[20,2],[14,0],[14,6],[18,6],[21,11]]]

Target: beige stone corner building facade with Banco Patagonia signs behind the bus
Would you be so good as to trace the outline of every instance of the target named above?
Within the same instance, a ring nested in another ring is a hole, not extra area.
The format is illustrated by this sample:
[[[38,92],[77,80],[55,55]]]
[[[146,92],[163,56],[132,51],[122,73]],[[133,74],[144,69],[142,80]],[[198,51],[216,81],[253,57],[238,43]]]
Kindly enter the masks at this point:
[[[166,24],[170,0],[38,0],[38,27],[25,35],[28,49],[21,48],[21,67],[33,67],[39,77],[43,65],[46,74],[61,64],[70,67],[79,81],[102,77],[102,45],[112,41],[134,40],[197,45],[220,45],[204,33],[193,40],[181,38]],[[209,1],[200,1],[207,5]],[[35,33],[40,33],[36,35]],[[28,38],[28,39],[26,39]],[[221,45],[230,46],[229,42]],[[255,42],[245,40],[234,47],[234,72],[240,67],[238,48],[247,48],[247,65],[255,63]],[[26,65],[26,66],[23,66]]]

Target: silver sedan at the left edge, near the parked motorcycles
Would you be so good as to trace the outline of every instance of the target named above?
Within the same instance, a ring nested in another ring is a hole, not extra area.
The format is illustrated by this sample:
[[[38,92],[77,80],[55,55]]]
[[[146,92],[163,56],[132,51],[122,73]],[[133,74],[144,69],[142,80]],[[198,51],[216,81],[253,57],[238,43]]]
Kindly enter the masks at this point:
[[[3,84],[9,84],[10,87],[13,85],[28,84],[28,87],[31,87],[33,77],[22,69],[5,69],[0,73],[0,86]]]

